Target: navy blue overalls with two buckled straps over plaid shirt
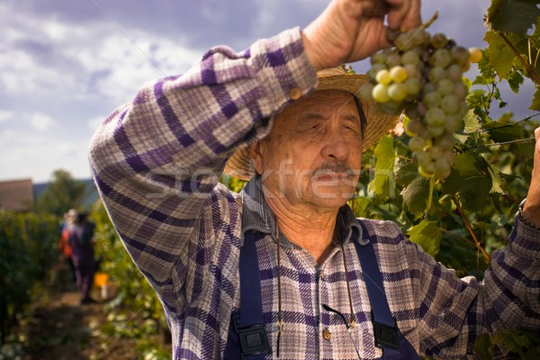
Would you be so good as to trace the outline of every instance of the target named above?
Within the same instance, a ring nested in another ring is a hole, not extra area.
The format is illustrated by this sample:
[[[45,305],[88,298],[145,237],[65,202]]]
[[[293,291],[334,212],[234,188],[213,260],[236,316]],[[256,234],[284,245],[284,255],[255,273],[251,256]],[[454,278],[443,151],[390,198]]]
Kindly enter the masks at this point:
[[[364,234],[367,230],[360,222]],[[224,359],[264,360],[272,353],[263,323],[261,282],[255,243],[264,238],[260,232],[247,231],[240,249],[240,309],[230,317],[229,337]],[[383,349],[381,360],[417,360],[419,356],[401,334],[386,299],[383,276],[377,265],[374,247],[353,240],[364,272],[365,287],[372,305],[375,346]],[[383,289],[381,291],[380,289]],[[274,355],[275,356],[275,355]]]

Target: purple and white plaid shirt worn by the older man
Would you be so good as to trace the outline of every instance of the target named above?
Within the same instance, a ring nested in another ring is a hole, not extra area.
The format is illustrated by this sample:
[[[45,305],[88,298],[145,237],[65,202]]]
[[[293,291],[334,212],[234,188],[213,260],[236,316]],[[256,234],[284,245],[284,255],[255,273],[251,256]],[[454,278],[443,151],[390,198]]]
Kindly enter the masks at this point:
[[[268,233],[257,242],[257,255],[266,331],[275,347],[273,215],[255,183],[231,193],[218,176],[238,146],[267,134],[272,116],[293,101],[291,90],[307,95],[316,85],[299,29],[284,31],[241,53],[211,49],[183,76],[143,87],[94,135],[95,182],[130,256],[163,303],[175,359],[222,356],[230,313],[238,308],[242,229],[249,227]],[[381,352],[350,241],[355,223],[350,209],[339,212],[357,321],[353,336],[361,356],[374,359]],[[481,283],[456,278],[392,222],[365,220],[365,226],[376,239],[392,315],[419,353],[473,358],[482,332],[540,328],[540,231],[517,220],[509,247],[493,254]],[[320,266],[290,242],[282,251],[282,358],[356,358],[344,324],[321,307],[349,314],[341,248]],[[330,338],[322,336],[325,329]]]

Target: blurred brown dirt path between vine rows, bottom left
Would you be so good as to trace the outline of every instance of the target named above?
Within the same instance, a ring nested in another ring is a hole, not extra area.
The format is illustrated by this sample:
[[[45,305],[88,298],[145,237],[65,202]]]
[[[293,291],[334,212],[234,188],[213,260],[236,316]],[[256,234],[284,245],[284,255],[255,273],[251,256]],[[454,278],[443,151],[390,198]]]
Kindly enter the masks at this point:
[[[137,359],[137,340],[106,336],[104,303],[79,303],[75,284],[42,296],[17,329],[23,360]],[[1,357],[1,356],[0,356]],[[8,357],[9,358],[9,357]]]

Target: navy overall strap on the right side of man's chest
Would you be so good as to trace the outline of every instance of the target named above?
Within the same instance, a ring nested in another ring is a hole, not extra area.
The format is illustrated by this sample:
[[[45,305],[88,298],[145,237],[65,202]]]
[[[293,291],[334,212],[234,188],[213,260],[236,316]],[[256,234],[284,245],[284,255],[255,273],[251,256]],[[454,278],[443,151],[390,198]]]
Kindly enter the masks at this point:
[[[364,224],[360,223],[363,233],[368,234]],[[370,239],[365,245],[354,240],[356,252],[364,275],[365,287],[372,307],[375,346],[383,349],[384,358],[401,358],[401,333],[392,318],[392,312],[383,287],[383,275],[377,264],[374,246]]]

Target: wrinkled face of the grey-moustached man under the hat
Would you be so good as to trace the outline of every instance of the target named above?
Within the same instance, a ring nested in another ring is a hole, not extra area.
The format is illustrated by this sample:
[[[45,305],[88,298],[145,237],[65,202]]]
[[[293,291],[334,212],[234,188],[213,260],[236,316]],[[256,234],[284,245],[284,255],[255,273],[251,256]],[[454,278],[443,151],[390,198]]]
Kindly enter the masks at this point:
[[[266,198],[338,208],[354,194],[362,162],[360,115],[351,94],[318,91],[275,117],[250,147]]]

